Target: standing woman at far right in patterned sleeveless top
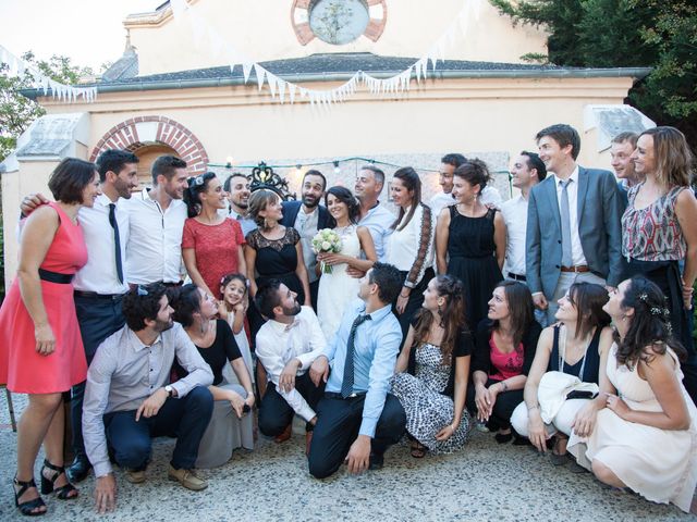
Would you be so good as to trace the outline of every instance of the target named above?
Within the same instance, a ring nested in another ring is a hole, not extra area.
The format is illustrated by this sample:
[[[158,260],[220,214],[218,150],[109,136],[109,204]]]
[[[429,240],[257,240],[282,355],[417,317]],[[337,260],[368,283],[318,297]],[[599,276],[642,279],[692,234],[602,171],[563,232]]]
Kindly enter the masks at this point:
[[[693,154],[683,133],[655,127],[641,133],[632,154],[644,182],[627,192],[622,254],[627,275],[645,275],[668,297],[673,334],[685,350],[685,387],[697,402],[697,351],[690,328],[697,276],[697,199],[690,190]],[[680,262],[685,260],[681,273]]]

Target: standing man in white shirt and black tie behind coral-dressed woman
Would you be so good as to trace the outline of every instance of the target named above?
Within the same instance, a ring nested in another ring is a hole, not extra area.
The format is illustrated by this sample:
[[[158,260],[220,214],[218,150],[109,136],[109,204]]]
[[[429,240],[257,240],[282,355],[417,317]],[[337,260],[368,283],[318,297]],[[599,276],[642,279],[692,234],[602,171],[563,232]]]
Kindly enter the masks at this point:
[[[131,192],[138,186],[138,158],[127,150],[105,150],[97,158],[101,196],[94,207],[83,207],[77,221],[85,236],[87,264],[75,274],[75,312],[83,338],[87,364],[99,344],[123,326],[121,299],[129,289],[126,244],[130,220],[126,209]],[[28,215],[48,200],[40,194],[22,201],[22,213]],[[72,482],[89,473],[82,436],[83,395],[85,383],[73,386],[71,420],[75,460],[66,472]]]

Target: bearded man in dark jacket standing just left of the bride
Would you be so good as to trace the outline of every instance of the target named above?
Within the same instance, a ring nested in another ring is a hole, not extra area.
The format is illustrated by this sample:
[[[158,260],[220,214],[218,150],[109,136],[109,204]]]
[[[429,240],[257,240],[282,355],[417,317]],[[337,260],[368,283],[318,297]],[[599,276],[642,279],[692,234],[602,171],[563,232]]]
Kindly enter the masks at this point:
[[[315,271],[317,254],[313,251],[313,237],[317,235],[317,231],[331,227],[333,221],[327,209],[319,204],[322,196],[325,196],[326,188],[327,178],[325,175],[319,171],[309,170],[303,176],[302,202],[283,201],[282,203],[283,219],[281,224],[295,228],[301,235],[303,261],[307,269],[310,300],[315,311],[317,311],[319,276]]]

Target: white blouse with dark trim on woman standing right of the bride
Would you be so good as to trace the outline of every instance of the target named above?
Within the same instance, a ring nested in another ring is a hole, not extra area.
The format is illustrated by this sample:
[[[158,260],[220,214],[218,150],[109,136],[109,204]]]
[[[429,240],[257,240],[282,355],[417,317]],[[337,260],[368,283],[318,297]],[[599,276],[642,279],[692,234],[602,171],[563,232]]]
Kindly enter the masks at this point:
[[[409,209],[406,209],[402,221],[388,240],[386,262],[402,272],[408,272],[404,286],[414,288],[424,277],[426,269],[433,264],[436,215],[429,207],[420,203],[408,224],[400,231],[408,213]]]

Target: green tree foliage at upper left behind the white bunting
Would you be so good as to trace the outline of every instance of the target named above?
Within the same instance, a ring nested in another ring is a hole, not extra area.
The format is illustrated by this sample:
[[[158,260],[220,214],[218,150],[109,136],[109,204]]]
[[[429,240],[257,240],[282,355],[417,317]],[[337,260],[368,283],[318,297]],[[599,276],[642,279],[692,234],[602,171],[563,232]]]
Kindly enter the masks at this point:
[[[89,67],[74,65],[68,57],[53,55],[49,60],[37,60],[32,51],[22,59],[34,65],[41,74],[65,85],[75,85],[83,76],[93,75]],[[29,72],[22,76],[10,76],[5,63],[0,63],[0,161],[16,147],[20,135],[46,111],[37,102],[22,96],[22,89],[34,86]]]

